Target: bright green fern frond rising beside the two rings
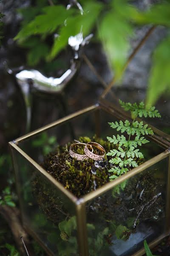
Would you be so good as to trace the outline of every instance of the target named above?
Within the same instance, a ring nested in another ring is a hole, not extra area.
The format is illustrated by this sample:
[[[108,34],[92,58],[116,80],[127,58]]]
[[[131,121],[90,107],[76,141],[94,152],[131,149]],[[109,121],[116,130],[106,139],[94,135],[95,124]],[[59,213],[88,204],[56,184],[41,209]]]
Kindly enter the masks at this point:
[[[109,172],[113,173],[109,178],[111,180],[116,179],[122,174],[129,171],[129,167],[137,167],[138,163],[135,160],[144,158],[143,154],[139,152],[138,146],[148,143],[149,140],[146,140],[141,135],[150,134],[153,135],[151,128],[148,128],[147,124],[143,122],[136,121],[137,116],[139,117],[161,117],[158,110],[155,107],[144,108],[144,102],[140,102],[139,105],[136,103],[125,103],[119,100],[119,103],[125,111],[130,111],[133,121],[130,123],[128,120],[123,122],[122,120],[118,122],[110,122],[109,125],[111,128],[121,131],[121,133],[126,133],[128,139],[124,135],[113,135],[113,137],[107,137],[110,143],[114,145],[119,145],[117,149],[111,149],[107,156],[114,157],[109,162],[114,165]],[[132,138],[132,136],[135,136]]]

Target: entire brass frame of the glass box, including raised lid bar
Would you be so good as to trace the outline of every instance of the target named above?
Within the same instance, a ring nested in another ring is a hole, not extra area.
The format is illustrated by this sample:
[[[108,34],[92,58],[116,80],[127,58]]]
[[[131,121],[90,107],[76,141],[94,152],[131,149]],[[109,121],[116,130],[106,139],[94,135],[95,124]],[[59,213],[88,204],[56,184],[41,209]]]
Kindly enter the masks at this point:
[[[127,63],[125,64],[123,71],[127,67],[128,63],[131,61],[133,56],[136,54],[136,52],[139,50],[139,48],[144,44],[144,42],[147,40],[149,35],[153,32],[154,28],[155,27],[153,26],[148,30],[148,32],[146,33],[144,38],[142,38],[142,40],[139,42],[138,46],[133,50],[132,54],[129,56],[129,58],[127,60]],[[133,171],[130,171],[130,172],[126,173],[125,175],[122,175],[122,177],[119,177],[119,179],[116,179],[111,183],[107,183],[104,186],[102,186],[101,188],[96,189],[96,191],[90,192],[88,195],[85,195],[84,197],[79,198],[79,199],[77,197],[75,197],[71,192],[66,190],[59,182],[57,182],[53,177],[51,177],[51,175],[49,175],[38,163],[36,163],[31,157],[28,156],[28,154],[26,154],[19,147],[19,144],[23,140],[27,140],[28,138],[30,138],[42,131],[46,131],[54,126],[63,124],[63,123],[68,122],[69,120],[72,120],[74,118],[78,118],[79,116],[81,116],[84,113],[90,113],[90,112],[95,111],[95,120],[96,120],[96,124],[97,124],[98,119],[99,119],[99,109],[102,109],[102,110],[110,113],[111,115],[116,116],[118,119],[126,119],[126,118],[131,119],[131,117],[128,115],[128,113],[126,113],[122,109],[116,107],[116,105],[113,105],[110,102],[107,102],[105,100],[105,96],[107,95],[107,93],[109,92],[111,87],[113,86],[114,82],[115,82],[115,78],[113,78],[111,83],[105,89],[104,93],[102,94],[102,96],[99,100],[99,104],[90,106],[88,108],[77,111],[76,113],[65,116],[64,118],[59,119],[56,122],[53,122],[53,123],[46,125],[40,129],[37,129],[36,131],[33,131],[29,134],[26,134],[26,135],[18,138],[17,140],[9,142],[12,156],[13,156],[14,169],[16,169],[16,168],[15,168],[15,159],[14,159],[14,155],[13,155],[13,150],[17,151],[19,154],[21,154],[32,166],[34,166],[34,168],[36,168],[38,171],[40,171],[42,173],[42,175],[44,175],[48,180],[50,180],[51,183],[53,183],[65,196],[67,196],[74,203],[75,209],[76,209],[76,215],[77,215],[77,233],[78,233],[78,241],[79,241],[79,253],[81,256],[88,256],[88,237],[87,237],[87,230],[86,230],[85,204],[89,200],[96,198],[97,196],[101,195],[104,192],[107,192],[109,189],[112,189],[114,186],[118,185],[119,183],[122,183],[122,181],[126,180],[127,178],[133,177],[134,175],[142,172],[144,169],[152,166],[155,163],[158,163],[160,160],[163,160],[166,157],[169,158],[168,177],[167,177],[167,180],[168,180],[168,182],[167,182],[167,208],[166,208],[167,228],[166,228],[165,232],[161,236],[159,236],[157,239],[152,241],[149,244],[149,246],[150,247],[155,246],[156,244],[159,243],[159,241],[161,241],[161,239],[163,239],[165,236],[167,236],[168,233],[170,232],[170,136],[163,133],[162,131],[159,131],[159,129],[154,128],[153,126],[150,125],[150,127],[155,132],[155,134],[151,137],[151,140],[153,140],[158,145],[163,147],[165,149],[164,152],[162,152],[161,154],[157,155],[156,157],[153,157],[152,159],[144,162],[142,165],[134,168]],[[99,125],[96,125],[96,128],[97,128],[96,133],[97,133],[97,135],[99,135],[100,134]],[[16,181],[17,181],[17,174],[16,174]],[[19,183],[18,182],[17,182],[17,190],[19,191]],[[19,195],[19,201],[21,202],[20,195]],[[20,203],[20,206],[22,206],[21,203]],[[24,220],[22,210],[21,210],[21,213],[22,213],[22,219]],[[24,224],[24,221],[23,221],[23,224]],[[46,248],[44,246],[44,244],[36,236],[34,231],[30,230],[30,228],[27,226],[25,226],[25,227],[28,230],[28,232],[31,233],[31,235],[39,241],[39,243],[42,245],[42,247],[44,247],[44,249],[47,251],[48,255],[54,256],[54,254],[48,248]],[[139,250],[133,256],[142,256],[143,254],[144,254],[144,248]]]

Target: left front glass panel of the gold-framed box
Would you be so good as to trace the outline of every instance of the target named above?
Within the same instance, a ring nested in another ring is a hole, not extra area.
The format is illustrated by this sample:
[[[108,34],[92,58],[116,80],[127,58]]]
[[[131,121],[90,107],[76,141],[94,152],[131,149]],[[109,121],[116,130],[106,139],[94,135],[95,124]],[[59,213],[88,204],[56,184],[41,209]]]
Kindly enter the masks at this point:
[[[23,224],[54,255],[77,255],[75,205],[14,151]]]

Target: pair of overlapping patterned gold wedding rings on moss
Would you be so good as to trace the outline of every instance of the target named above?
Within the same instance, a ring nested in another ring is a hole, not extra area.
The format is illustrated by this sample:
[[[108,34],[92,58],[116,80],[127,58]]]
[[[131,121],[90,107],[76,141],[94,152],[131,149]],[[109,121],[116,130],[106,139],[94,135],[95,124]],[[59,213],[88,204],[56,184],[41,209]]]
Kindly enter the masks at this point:
[[[85,154],[78,154],[75,152],[75,148],[77,146],[82,146],[84,148]],[[99,154],[94,154],[94,149],[96,149],[96,152]],[[96,142],[89,142],[89,143],[73,143],[70,146],[69,154],[71,157],[75,158],[76,160],[87,160],[88,158],[94,159],[94,160],[102,160],[105,157],[106,151],[105,148],[103,148],[99,143]]]

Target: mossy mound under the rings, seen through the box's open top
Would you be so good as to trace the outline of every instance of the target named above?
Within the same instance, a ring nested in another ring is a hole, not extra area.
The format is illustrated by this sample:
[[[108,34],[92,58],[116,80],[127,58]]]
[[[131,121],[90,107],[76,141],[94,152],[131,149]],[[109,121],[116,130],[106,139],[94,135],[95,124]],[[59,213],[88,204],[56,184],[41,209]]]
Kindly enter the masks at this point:
[[[105,148],[105,151],[111,149],[111,143],[102,139],[93,137],[79,137],[78,141],[82,143],[88,143],[94,141],[99,143]],[[75,143],[75,142],[72,142]],[[58,147],[53,154],[45,157],[42,164],[43,168],[58,180],[65,189],[68,189],[77,197],[88,194],[96,188],[101,187],[105,183],[109,182],[109,172],[107,157],[105,157],[104,164],[106,167],[95,167],[95,160],[88,159],[84,161],[78,161],[69,155],[69,147],[72,143],[68,143],[65,147]],[[76,148],[78,154],[84,154],[84,150],[81,146]],[[99,152],[94,149],[94,154]],[[93,172],[96,172],[94,175]],[[95,184],[96,185],[95,185]]]

